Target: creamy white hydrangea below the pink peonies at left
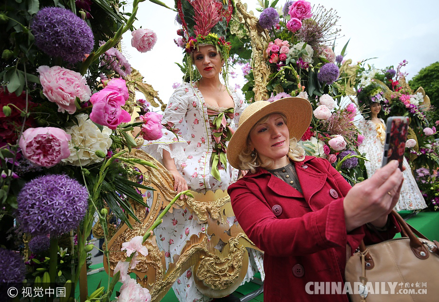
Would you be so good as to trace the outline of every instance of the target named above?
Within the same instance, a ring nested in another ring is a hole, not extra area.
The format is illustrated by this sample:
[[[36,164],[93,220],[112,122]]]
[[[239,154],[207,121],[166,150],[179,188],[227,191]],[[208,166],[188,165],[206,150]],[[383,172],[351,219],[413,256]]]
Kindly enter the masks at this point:
[[[62,162],[70,165],[82,166],[100,162],[103,159],[96,156],[95,151],[102,151],[107,153],[107,150],[111,146],[110,135],[111,129],[107,126],[103,126],[102,132],[100,132],[98,126],[96,126],[85,113],[78,114],[78,125],[73,125],[65,129],[65,132],[72,136],[72,140],[69,142],[70,156]],[[80,147],[77,151],[75,146]]]

